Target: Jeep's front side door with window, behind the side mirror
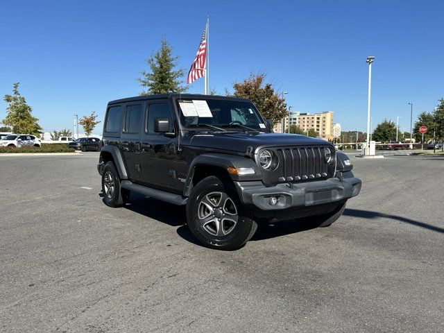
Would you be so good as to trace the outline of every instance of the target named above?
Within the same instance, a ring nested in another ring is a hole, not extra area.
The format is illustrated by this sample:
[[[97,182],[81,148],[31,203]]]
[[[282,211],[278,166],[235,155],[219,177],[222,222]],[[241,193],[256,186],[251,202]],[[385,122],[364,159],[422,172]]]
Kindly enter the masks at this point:
[[[169,132],[175,131],[169,101],[149,101],[147,105],[140,153],[142,181],[157,187],[174,187],[177,181],[177,136],[167,137],[164,133],[155,133],[156,118],[169,119]]]

